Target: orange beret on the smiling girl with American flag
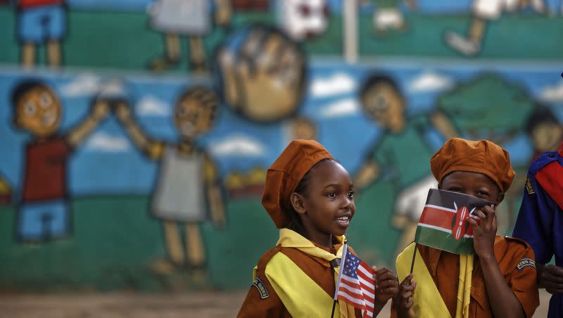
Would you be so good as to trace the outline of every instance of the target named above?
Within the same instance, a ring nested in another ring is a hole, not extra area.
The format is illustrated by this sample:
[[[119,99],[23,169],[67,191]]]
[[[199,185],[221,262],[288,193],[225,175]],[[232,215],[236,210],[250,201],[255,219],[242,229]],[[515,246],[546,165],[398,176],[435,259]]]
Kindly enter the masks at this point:
[[[266,174],[262,205],[281,229],[289,222],[291,203],[289,196],[314,165],[332,155],[317,141],[294,140],[274,161]]]

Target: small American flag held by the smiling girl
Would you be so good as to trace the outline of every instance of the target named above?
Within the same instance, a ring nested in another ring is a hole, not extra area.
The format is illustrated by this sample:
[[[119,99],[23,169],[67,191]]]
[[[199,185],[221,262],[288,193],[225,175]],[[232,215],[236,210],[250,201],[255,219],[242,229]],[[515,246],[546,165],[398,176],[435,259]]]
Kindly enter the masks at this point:
[[[375,301],[374,270],[360,257],[348,253],[344,243],[339,280],[336,284],[338,298],[362,310],[363,317],[373,317]]]

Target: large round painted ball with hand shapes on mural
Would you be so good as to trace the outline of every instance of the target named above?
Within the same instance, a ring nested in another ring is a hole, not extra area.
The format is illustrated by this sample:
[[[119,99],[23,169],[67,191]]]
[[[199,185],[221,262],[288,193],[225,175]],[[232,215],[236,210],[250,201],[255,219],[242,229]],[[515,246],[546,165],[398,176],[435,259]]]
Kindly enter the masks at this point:
[[[299,46],[274,27],[255,25],[234,35],[217,53],[227,106],[258,122],[295,115],[305,91]]]

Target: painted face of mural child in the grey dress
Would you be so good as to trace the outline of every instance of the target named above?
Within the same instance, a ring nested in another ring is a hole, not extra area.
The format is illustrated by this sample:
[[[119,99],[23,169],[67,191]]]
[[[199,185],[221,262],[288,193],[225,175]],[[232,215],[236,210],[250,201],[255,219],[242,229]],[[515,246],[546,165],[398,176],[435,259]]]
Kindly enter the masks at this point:
[[[197,96],[184,96],[176,104],[174,124],[184,139],[208,132],[213,124],[213,107]]]

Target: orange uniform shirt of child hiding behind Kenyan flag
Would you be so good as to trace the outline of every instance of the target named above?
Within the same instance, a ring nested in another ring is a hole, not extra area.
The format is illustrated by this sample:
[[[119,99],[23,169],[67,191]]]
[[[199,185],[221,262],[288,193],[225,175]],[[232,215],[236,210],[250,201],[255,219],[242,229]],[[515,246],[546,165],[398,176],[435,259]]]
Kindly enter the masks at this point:
[[[512,293],[516,295],[526,317],[532,317],[533,312],[540,305],[538,286],[536,283],[536,267],[531,266],[526,259],[534,260],[533,250],[528,243],[519,239],[505,236],[496,236],[495,257],[500,267],[502,276],[505,277]],[[452,317],[455,317],[457,305],[457,285],[460,276],[459,255],[418,246],[419,253],[424,259],[424,264],[436,284],[442,299]],[[524,260],[524,262],[521,262]],[[526,265],[526,266],[523,266]],[[417,279],[417,273],[414,273]],[[471,282],[471,301],[469,303],[469,317],[487,318],[493,317],[493,312],[488,302],[485,281],[483,281],[483,270],[479,264],[479,258],[475,257]],[[416,291],[415,291],[416,293]],[[391,308],[391,317],[397,317],[395,304]]]

